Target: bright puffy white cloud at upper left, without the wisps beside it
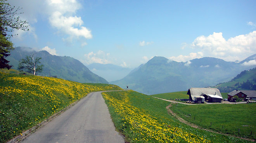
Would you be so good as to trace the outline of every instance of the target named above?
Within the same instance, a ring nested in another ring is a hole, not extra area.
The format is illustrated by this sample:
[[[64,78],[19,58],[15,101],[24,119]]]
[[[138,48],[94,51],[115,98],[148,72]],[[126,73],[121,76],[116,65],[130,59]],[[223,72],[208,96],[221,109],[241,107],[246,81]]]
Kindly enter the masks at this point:
[[[76,11],[81,8],[76,0],[47,0],[49,11],[49,22],[60,32],[69,35],[69,37],[91,39],[91,31],[83,25],[81,17],[77,17]],[[83,45],[85,45],[83,43]]]

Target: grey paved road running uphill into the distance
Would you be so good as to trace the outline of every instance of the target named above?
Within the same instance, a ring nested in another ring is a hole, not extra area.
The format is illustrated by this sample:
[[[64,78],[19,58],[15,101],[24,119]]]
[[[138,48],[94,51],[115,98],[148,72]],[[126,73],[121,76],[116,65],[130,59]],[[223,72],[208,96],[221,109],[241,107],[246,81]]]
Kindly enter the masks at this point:
[[[124,143],[101,92],[90,93],[26,138],[24,143]]]

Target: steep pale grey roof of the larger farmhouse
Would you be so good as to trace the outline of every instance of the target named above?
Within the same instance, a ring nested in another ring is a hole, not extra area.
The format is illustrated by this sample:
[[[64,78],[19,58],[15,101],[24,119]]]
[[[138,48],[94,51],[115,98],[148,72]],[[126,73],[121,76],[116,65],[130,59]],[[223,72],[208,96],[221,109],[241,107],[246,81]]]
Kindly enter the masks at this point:
[[[191,87],[187,94],[189,95],[189,99],[194,101],[196,96],[200,96],[201,94],[210,94],[210,95],[214,95],[216,94],[217,96],[221,96],[219,89],[217,88],[195,88],[195,87]]]

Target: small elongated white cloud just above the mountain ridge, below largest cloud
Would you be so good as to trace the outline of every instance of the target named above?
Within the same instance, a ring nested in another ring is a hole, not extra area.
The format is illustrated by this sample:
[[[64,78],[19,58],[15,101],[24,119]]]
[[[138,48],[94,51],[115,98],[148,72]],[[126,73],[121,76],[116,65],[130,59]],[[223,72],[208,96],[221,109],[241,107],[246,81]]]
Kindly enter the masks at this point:
[[[183,55],[180,55],[178,57],[172,56],[172,57],[169,57],[168,59],[176,62],[186,62],[192,59],[201,58],[202,56],[203,56],[202,52],[197,52],[197,53],[190,53],[189,56],[183,56]]]

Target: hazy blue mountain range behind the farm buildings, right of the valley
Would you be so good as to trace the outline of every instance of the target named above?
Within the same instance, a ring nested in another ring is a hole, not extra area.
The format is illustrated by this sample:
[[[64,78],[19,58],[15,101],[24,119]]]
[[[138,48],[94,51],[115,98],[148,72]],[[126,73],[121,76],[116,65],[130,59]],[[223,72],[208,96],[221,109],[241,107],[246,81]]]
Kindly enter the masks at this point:
[[[123,79],[112,81],[122,88],[129,87],[144,94],[186,91],[190,87],[213,86],[230,81],[241,71],[255,65],[246,64],[255,60],[250,56],[242,62],[227,62],[213,57],[176,62],[165,57],[153,57],[146,64],[130,72]]]

